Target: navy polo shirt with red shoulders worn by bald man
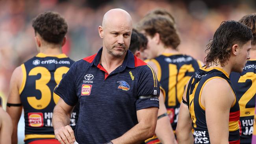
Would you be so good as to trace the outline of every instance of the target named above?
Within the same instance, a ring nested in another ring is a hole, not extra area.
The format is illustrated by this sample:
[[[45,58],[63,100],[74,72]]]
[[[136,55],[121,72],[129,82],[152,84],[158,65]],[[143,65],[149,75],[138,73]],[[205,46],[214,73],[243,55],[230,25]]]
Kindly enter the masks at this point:
[[[136,111],[159,107],[154,70],[130,50],[121,66],[108,72],[100,65],[102,48],[76,61],[54,90],[65,103],[79,101],[75,137],[79,144],[104,144],[138,124]]]

